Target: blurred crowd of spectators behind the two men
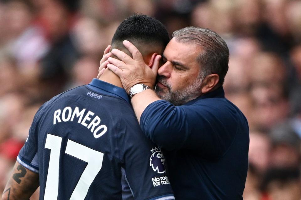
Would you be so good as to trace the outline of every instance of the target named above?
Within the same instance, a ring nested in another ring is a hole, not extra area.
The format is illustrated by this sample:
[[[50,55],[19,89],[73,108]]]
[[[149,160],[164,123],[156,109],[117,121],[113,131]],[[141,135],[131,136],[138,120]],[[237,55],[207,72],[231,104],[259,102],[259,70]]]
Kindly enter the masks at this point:
[[[223,37],[226,98],[250,126],[244,199],[300,200],[300,0],[0,0],[0,190],[37,109],[90,83],[133,13],[156,17],[170,35],[193,25]]]

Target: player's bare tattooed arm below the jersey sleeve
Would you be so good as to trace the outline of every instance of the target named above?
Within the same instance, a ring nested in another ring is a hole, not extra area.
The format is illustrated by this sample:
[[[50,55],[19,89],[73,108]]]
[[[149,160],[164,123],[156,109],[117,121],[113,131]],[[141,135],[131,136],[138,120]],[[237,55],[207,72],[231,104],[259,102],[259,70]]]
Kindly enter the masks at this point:
[[[24,168],[18,161],[2,194],[2,200],[28,200],[39,187],[39,174]]]

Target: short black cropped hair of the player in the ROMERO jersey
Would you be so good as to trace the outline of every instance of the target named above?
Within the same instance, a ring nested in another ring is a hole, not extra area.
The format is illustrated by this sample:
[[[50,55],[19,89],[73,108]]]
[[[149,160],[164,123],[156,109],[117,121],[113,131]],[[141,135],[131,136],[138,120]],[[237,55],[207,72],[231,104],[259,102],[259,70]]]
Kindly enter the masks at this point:
[[[164,45],[165,47],[169,42],[169,36],[166,27],[159,20],[147,15],[135,14],[121,22],[111,43],[124,40]]]

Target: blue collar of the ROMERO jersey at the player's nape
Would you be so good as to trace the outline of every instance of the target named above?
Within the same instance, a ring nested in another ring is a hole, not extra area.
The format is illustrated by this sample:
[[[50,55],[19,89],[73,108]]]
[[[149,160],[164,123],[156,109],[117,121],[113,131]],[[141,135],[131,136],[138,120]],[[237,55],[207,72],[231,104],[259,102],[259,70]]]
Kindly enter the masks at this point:
[[[101,81],[97,78],[93,78],[91,83],[87,85],[88,88],[95,90],[98,93],[107,94],[111,96],[117,96],[124,99],[130,104],[129,96],[126,93],[125,89],[118,86],[112,85],[110,83]]]

